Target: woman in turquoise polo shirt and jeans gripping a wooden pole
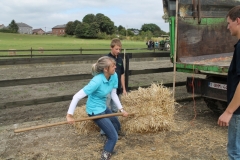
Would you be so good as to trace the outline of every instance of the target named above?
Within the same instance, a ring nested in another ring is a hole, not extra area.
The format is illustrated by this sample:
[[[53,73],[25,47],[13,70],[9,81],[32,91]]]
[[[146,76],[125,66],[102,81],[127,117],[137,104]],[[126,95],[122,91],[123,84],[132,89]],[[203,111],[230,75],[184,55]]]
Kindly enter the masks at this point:
[[[106,106],[106,99],[109,93],[118,110],[123,113],[123,116],[128,116],[128,113],[123,110],[117,96],[118,77],[115,73],[115,68],[115,60],[108,56],[99,58],[97,63],[92,66],[92,74],[94,77],[83,89],[73,96],[66,116],[69,123],[74,123],[73,113],[78,101],[87,95],[86,111],[88,116],[112,113]],[[107,137],[101,160],[108,160],[118,140],[118,131],[121,128],[120,123],[117,117],[96,119],[94,122],[104,131]]]

